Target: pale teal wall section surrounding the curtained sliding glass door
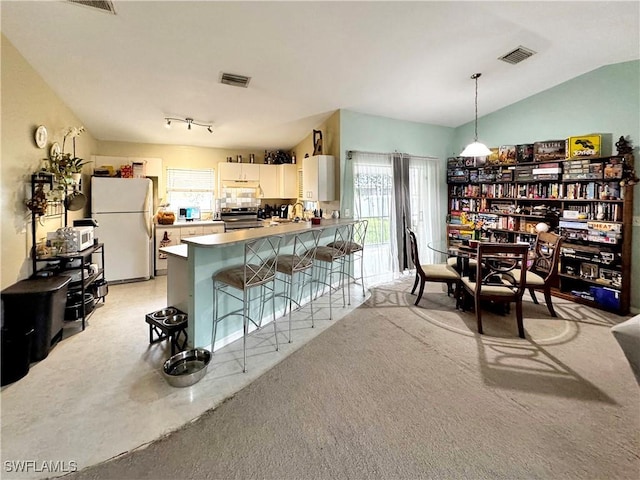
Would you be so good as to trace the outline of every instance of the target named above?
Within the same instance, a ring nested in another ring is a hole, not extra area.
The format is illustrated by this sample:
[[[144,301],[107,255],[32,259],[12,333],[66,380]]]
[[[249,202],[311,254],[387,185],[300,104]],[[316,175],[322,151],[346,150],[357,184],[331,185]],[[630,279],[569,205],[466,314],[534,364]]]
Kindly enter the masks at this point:
[[[442,221],[446,217],[445,159],[449,156],[454,129],[417,122],[365,115],[350,110],[340,111],[340,203],[344,211],[353,205],[353,175],[348,150],[365,152],[400,152],[436,157],[442,160],[440,192]]]

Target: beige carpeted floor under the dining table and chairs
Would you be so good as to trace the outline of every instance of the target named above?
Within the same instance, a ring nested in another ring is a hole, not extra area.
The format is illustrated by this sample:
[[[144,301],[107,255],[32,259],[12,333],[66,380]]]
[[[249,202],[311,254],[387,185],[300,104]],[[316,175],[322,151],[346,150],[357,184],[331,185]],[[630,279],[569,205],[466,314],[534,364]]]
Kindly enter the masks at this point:
[[[221,406],[71,479],[636,479],[640,389],[609,328],[556,300],[558,318],[419,307],[405,279]]]

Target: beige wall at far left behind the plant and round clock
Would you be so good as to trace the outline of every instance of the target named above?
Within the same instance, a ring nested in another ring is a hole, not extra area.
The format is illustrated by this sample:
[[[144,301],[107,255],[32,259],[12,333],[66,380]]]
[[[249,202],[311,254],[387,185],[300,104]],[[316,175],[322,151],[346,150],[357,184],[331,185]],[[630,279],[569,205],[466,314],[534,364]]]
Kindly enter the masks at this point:
[[[31,274],[29,251],[31,248],[31,221],[25,200],[30,195],[30,176],[40,169],[41,160],[48,155],[52,142],[62,146],[63,131],[82,122],[58,98],[24,57],[2,35],[2,114],[1,114],[1,169],[2,185],[2,242],[0,288],[5,288]],[[46,148],[39,149],[34,142],[38,125],[49,133]],[[69,142],[67,142],[69,143]],[[70,152],[70,146],[66,146]],[[76,140],[76,155],[89,159],[96,149],[90,132]],[[91,166],[85,167],[86,185]],[[69,222],[82,218],[86,211],[70,212]],[[57,216],[37,225],[36,238],[64,226],[64,217]]]

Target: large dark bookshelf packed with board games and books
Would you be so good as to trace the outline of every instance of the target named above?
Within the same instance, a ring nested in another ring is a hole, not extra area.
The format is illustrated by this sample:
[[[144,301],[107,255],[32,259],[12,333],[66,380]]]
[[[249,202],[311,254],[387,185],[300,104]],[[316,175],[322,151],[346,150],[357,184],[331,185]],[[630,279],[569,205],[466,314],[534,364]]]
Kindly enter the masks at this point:
[[[563,237],[554,295],[627,314],[633,156],[509,160],[448,159],[449,244],[533,245],[538,226],[546,224]]]

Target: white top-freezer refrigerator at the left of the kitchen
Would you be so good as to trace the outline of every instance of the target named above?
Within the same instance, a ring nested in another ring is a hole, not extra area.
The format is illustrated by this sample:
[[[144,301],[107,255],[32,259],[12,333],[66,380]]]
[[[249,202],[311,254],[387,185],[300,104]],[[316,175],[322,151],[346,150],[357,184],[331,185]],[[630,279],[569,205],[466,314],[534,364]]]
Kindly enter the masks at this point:
[[[95,237],[104,244],[109,282],[152,276],[152,183],[148,178],[91,177],[91,216]]]

